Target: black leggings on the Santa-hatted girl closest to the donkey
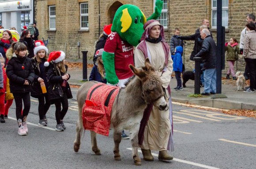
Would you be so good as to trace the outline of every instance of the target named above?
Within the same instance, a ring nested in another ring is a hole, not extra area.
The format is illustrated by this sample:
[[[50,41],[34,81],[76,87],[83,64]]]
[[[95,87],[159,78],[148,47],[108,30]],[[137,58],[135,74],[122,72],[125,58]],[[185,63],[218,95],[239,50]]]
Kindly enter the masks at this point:
[[[56,121],[57,121],[57,125],[59,125],[60,120],[63,120],[64,116],[66,115],[66,113],[68,111],[68,97],[67,97],[67,94],[64,92],[63,97],[61,97],[60,99],[57,99],[54,104],[55,104],[55,107],[56,107],[55,118],[56,118]],[[62,110],[61,110],[61,105],[62,105]]]

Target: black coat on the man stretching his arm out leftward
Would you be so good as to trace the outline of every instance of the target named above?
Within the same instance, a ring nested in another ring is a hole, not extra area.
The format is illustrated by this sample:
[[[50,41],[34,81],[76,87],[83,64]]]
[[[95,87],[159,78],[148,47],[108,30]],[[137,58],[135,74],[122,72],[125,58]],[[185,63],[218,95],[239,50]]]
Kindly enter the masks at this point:
[[[210,31],[210,33],[211,33],[211,31]],[[212,37],[212,35],[211,35],[211,37]],[[199,28],[196,29],[196,32],[193,35],[181,36],[180,38],[182,40],[195,40],[194,48],[193,48],[193,50],[191,52],[191,55],[190,55],[190,60],[194,61],[195,55],[202,49],[203,39],[200,36],[200,29]]]

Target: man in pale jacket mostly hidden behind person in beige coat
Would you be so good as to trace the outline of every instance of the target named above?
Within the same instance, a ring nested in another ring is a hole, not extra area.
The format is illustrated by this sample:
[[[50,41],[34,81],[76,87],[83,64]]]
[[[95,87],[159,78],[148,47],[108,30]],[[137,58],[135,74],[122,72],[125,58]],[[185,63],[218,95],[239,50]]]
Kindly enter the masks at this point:
[[[246,15],[246,20],[245,20],[247,23],[250,23],[250,22],[254,22],[255,23],[255,15],[253,14],[248,14]],[[243,49],[244,49],[244,38],[245,38],[245,34],[248,33],[248,31],[245,29],[242,30],[241,32],[241,35],[240,35],[240,53],[241,55],[243,54]],[[244,76],[245,76],[245,79],[247,80],[249,78],[249,75],[248,75],[249,71],[248,71],[248,64],[246,63],[245,64],[245,73],[244,73]]]

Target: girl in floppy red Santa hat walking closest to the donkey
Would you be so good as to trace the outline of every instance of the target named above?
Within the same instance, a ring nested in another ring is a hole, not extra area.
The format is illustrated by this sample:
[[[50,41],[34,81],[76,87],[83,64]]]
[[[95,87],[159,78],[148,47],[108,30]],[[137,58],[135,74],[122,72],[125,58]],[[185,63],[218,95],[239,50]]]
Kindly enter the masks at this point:
[[[66,129],[63,118],[68,111],[68,99],[72,98],[71,89],[67,82],[70,75],[67,73],[68,66],[64,65],[64,59],[65,53],[63,51],[53,51],[50,53],[47,62],[44,63],[49,79],[49,101],[51,104],[55,104],[56,107],[56,131]]]

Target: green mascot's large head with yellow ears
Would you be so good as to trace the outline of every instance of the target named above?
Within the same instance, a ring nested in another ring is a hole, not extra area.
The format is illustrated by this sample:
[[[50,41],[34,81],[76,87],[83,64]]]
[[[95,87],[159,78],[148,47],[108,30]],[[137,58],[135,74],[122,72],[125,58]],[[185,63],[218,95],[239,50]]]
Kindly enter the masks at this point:
[[[139,7],[131,4],[122,5],[114,16],[112,32],[117,32],[122,40],[137,46],[142,36],[143,25],[147,18]]]

